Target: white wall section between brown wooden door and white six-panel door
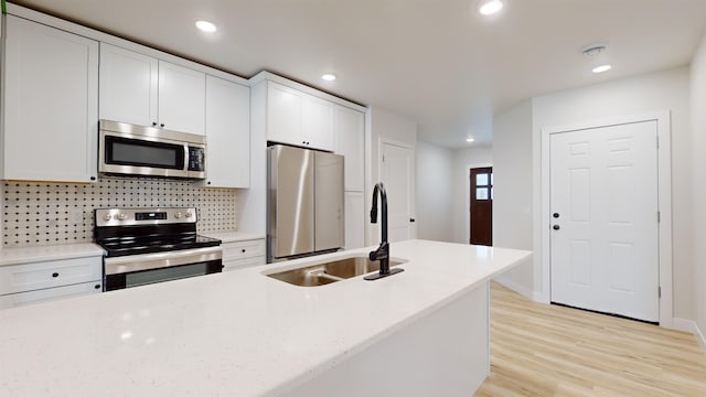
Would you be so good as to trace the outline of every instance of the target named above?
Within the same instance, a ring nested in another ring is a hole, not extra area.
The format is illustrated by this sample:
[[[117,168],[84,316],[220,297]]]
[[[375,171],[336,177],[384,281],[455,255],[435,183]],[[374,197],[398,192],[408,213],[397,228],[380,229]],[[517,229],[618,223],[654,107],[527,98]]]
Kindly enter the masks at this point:
[[[533,248],[532,100],[493,119],[493,246]],[[533,299],[533,262],[504,273],[499,282]]]

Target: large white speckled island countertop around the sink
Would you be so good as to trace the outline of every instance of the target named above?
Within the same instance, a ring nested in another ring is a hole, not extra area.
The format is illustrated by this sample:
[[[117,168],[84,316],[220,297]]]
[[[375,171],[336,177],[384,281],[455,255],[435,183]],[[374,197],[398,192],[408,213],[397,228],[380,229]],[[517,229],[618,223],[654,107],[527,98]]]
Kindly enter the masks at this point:
[[[0,310],[0,395],[282,395],[532,256],[409,240],[377,281],[263,275],[370,249]]]

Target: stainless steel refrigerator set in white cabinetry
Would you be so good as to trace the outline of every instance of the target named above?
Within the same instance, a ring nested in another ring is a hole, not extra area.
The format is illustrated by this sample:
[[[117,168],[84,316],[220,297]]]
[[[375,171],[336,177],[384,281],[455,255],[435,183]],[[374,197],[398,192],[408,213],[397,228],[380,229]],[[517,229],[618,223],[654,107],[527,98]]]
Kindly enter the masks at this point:
[[[268,148],[268,262],[343,247],[343,155]]]

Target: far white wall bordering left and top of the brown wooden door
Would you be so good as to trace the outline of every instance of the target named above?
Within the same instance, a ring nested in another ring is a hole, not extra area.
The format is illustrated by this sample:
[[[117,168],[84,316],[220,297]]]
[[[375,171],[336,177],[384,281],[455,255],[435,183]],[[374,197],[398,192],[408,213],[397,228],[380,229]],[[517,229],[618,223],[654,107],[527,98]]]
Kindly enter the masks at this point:
[[[492,165],[493,152],[490,147],[458,149],[453,152],[452,243],[469,244],[471,238],[470,169]]]

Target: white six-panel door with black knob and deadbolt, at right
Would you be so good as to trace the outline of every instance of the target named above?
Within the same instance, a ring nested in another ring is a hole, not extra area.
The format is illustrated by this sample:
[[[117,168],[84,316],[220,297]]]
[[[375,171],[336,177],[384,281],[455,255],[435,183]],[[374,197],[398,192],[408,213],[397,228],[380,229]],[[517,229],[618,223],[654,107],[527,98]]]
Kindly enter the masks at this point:
[[[550,136],[552,301],[659,320],[657,125]]]

